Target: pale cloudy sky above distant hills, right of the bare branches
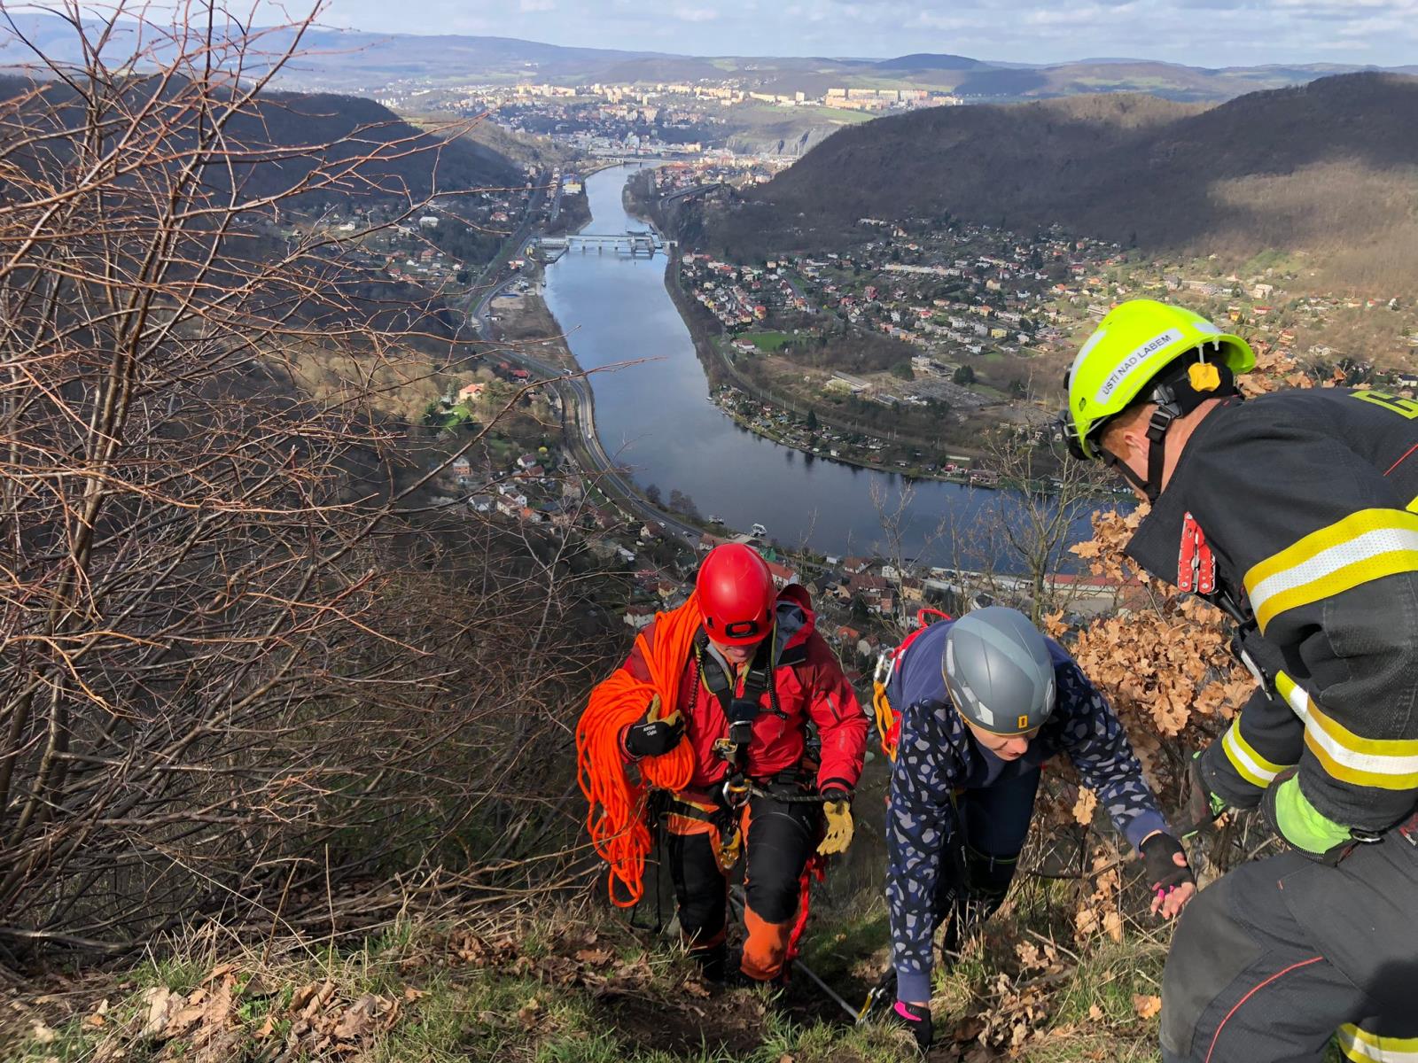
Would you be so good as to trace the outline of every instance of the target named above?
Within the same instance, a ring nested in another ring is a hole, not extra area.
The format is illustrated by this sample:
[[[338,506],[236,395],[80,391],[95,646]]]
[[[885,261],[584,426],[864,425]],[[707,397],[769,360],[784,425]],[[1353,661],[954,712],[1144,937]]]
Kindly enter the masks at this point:
[[[1418,64],[1418,0],[330,0],[320,21],[685,55]]]

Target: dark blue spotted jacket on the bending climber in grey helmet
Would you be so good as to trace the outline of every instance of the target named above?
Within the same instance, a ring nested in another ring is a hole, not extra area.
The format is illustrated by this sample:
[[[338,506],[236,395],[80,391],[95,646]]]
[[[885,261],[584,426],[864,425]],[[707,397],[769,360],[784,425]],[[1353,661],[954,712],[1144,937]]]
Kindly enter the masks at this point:
[[[1154,831],[1168,829],[1122,724],[1056,642],[1049,641],[1056,703],[1025,754],[1003,761],[977,746],[950,704],[940,672],[949,628],[946,621],[923,631],[888,686],[888,699],[900,714],[900,743],[886,812],[886,901],[903,1001],[930,999],[933,899],[942,859],[960,829],[951,804],[956,789],[988,787],[1005,772],[1066,753],[1133,848]]]

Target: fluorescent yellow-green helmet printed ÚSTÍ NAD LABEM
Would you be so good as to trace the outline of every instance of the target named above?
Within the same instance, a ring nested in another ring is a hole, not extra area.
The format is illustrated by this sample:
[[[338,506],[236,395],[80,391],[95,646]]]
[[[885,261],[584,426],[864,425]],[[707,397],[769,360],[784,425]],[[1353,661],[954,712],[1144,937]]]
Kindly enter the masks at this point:
[[[1098,458],[1095,442],[1103,424],[1144,397],[1167,366],[1193,350],[1202,366],[1231,370],[1228,378],[1255,367],[1255,354],[1245,340],[1222,332],[1200,313],[1153,299],[1115,306],[1078,351],[1068,374],[1068,408],[1061,420],[1069,448],[1081,458]],[[1193,384],[1198,391],[1214,388],[1217,394],[1231,390],[1229,386],[1222,390],[1219,378],[1212,383],[1214,377],[1200,376]]]

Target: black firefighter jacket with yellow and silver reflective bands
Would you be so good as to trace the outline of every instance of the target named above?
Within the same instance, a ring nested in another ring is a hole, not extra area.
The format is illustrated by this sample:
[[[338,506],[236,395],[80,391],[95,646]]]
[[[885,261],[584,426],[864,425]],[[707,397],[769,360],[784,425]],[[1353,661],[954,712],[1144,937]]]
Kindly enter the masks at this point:
[[[1246,618],[1262,687],[1205,754],[1215,792],[1255,805],[1299,764],[1300,792],[1341,826],[1381,831],[1412,809],[1418,403],[1347,388],[1227,400],[1127,554]]]

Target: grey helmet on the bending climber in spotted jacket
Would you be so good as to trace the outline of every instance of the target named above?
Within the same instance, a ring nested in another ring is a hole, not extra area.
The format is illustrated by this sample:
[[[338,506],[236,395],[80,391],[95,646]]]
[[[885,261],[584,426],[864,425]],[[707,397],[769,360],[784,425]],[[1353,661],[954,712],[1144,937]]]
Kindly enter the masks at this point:
[[[1017,609],[967,612],[946,634],[946,689],[970,723],[1022,734],[1054,712],[1054,662],[1039,629]]]

